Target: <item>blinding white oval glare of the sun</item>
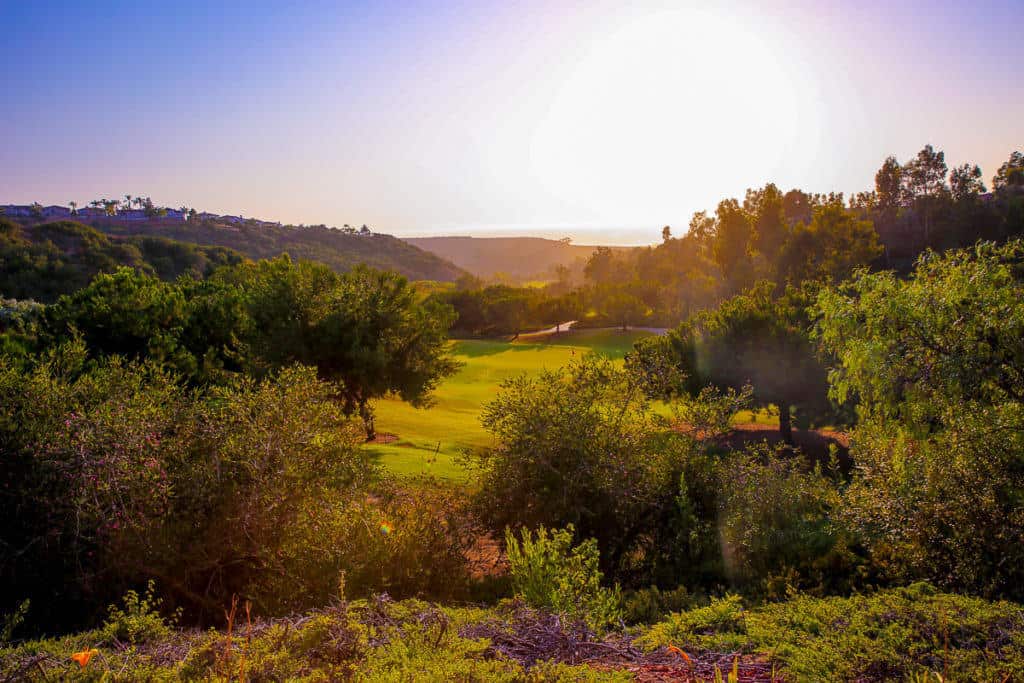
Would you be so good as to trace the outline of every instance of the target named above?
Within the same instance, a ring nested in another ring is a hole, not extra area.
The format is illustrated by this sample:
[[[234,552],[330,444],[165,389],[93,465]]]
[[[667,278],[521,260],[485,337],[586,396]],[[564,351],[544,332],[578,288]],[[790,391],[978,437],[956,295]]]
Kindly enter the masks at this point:
[[[535,136],[534,171],[553,194],[616,208],[683,186],[700,193],[703,178],[741,164],[770,173],[806,133],[809,108],[799,60],[779,46],[779,36],[714,11],[622,27],[561,84]]]

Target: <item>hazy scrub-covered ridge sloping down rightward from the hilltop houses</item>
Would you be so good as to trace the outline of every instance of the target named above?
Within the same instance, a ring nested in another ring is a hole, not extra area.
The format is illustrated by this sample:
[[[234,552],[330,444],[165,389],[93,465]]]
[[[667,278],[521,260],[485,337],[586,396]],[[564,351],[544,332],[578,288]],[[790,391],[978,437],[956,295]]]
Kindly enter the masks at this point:
[[[93,227],[116,236],[159,236],[197,245],[227,247],[253,259],[288,253],[293,258],[348,270],[365,263],[410,280],[454,282],[462,270],[432,253],[390,234],[359,234],[324,225],[229,224],[217,221],[153,220],[124,224],[96,219]]]

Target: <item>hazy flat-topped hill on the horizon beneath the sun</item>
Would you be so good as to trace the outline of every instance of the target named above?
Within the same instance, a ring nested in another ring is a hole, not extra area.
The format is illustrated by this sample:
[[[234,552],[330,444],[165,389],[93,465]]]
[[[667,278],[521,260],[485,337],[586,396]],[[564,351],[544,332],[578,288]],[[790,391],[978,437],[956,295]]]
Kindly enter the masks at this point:
[[[544,238],[406,238],[406,242],[485,280],[499,273],[520,281],[549,279],[559,265],[581,269],[597,249]]]

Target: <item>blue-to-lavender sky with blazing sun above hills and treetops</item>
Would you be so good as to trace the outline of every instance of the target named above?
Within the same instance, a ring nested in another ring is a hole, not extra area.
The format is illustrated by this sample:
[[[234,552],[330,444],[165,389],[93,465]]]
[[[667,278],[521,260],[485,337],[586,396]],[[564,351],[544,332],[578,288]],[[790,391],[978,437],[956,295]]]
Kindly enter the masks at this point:
[[[0,204],[642,244],[1024,148],[1024,2],[0,0]]]

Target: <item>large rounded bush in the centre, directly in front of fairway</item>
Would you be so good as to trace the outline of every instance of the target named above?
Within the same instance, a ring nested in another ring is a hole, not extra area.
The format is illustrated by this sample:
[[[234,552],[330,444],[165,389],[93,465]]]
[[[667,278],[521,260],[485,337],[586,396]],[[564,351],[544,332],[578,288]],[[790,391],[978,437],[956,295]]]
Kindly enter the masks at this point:
[[[496,529],[572,524],[614,570],[638,531],[671,504],[680,439],[654,425],[640,388],[607,358],[505,381],[481,422],[477,504]]]

